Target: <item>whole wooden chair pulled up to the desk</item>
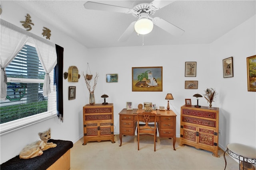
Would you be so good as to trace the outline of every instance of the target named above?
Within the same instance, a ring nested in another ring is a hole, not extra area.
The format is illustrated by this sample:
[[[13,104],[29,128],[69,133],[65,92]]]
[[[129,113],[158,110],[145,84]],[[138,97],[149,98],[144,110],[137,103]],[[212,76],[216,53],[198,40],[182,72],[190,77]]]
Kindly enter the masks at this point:
[[[140,150],[140,136],[147,135],[154,137],[154,151],[156,151],[156,114],[142,112],[138,113],[137,117],[138,150]],[[154,122],[154,124],[148,124],[150,122]]]

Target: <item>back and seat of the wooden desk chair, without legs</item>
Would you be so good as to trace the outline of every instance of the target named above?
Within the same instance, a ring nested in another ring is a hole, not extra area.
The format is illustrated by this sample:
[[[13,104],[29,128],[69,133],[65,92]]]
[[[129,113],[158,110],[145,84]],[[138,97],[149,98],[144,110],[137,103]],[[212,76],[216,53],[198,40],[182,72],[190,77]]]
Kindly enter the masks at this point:
[[[138,133],[152,133],[154,134],[156,131],[156,113],[151,112],[142,112],[138,113]],[[145,125],[141,126],[140,122],[143,122]],[[154,122],[154,126],[149,123]]]

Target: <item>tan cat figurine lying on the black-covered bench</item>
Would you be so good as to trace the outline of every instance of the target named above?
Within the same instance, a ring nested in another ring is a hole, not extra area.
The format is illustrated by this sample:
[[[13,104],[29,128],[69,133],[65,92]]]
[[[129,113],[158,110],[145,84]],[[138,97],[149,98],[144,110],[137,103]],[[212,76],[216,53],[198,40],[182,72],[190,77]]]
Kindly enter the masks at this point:
[[[51,138],[51,129],[49,128],[47,131],[38,133],[39,140],[31,143],[29,145],[26,145],[21,151],[20,151],[20,159],[29,159],[34,158],[36,156],[40,156],[43,154],[44,150],[54,148],[57,145],[54,143],[47,143],[47,141]]]

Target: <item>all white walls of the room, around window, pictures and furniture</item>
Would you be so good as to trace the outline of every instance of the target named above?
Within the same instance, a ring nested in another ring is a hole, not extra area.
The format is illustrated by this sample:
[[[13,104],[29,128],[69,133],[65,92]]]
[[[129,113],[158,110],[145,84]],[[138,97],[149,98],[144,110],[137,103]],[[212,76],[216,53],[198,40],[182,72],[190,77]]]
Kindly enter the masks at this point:
[[[167,105],[164,100],[172,93],[170,109],[177,115],[176,136],[180,135],[180,106],[185,98],[196,93],[202,94],[206,88],[216,88],[218,96],[213,107],[220,107],[219,145],[226,149],[228,143],[239,142],[255,146],[255,92],[247,92],[246,57],[255,55],[255,16],[230,31],[212,44],[168,45],[144,47],[119,47],[87,49],[74,39],[56,30],[52,25],[36,18],[32,13],[16,6],[12,1],[1,1],[1,18],[20,26],[27,13],[36,21],[31,30],[41,35],[42,26],[52,30],[51,41],[64,47],[64,72],[68,67],[78,67],[81,78],[77,83],[64,82],[64,123],[57,118],[40,122],[8,134],[1,135],[1,163],[19,154],[24,145],[38,139],[37,133],[51,127],[52,138],[76,142],[83,136],[82,106],[88,104],[89,93],[82,77],[87,63],[93,75],[99,73],[95,90],[96,103],[102,103],[102,94],[107,94],[106,102],[114,103],[114,133],[119,133],[118,113],[132,102],[136,108],[143,102],[152,102],[157,107]],[[145,42],[146,44],[146,42]],[[223,78],[222,59],[234,57],[234,78]],[[184,77],[186,61],[196,61],[196,77]],[[163,92],[132,92],[132,67],[162,66]],[[106,83],[106,74],[118,74],[117,83]],[[184,89],[185,80],[198,80],[198,89]],[[68,100],[68,86],[76,86],[76,99]],[[237,97],[239,96],[239,97]],[[208,106],[205,99],[199,104]],[[119,141],[117,141],[119,142]]]

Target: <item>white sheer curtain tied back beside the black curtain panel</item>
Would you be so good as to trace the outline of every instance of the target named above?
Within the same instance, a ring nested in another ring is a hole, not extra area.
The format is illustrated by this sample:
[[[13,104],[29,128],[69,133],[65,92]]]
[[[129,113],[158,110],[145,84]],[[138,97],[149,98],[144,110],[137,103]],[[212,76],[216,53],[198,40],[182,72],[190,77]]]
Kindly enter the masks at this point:
[[[45,44],[42,41],[38,41],[37,39],[34,39],[34,43],[36,45],[38,58],[46,72],[44,77],[43,95],[48,96],[51,92],[49,73],[57,64],[56,49],[55,47]]]

